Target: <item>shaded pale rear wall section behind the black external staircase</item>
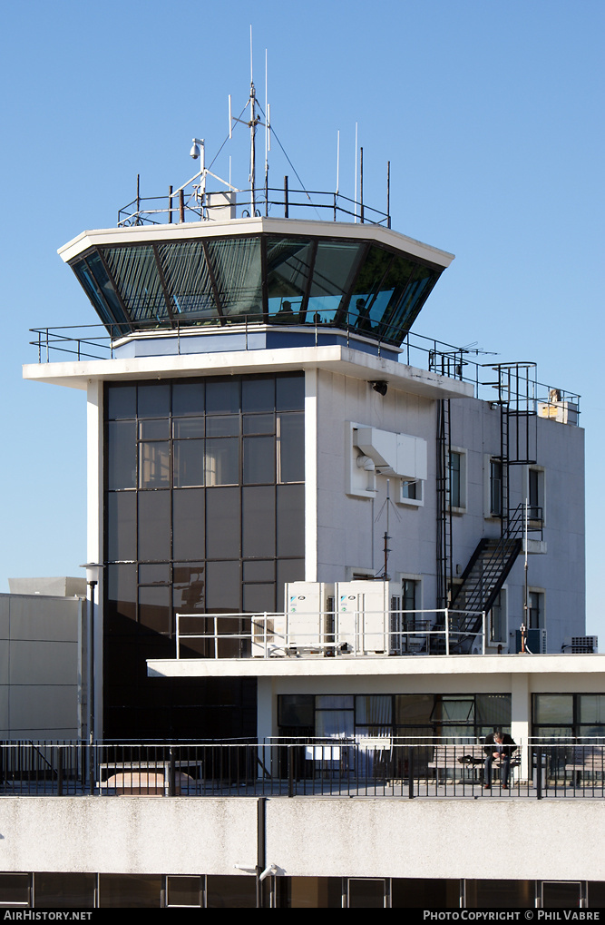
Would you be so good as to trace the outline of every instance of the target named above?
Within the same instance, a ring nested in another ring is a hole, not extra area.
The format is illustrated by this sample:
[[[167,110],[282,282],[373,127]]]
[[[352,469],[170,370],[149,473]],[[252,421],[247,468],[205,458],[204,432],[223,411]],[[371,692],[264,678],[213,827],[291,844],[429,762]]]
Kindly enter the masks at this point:
[[[498,536],[500,524],[486,517],[489,458],[500,453],[500,411],[486,401],[451,402],[452,443],[467,450],[467,512],[454,514],[456,566],[464,570],[480,536]],[[514,426],[513,424],[511,426]],[[586,632],[584,431],[545,418],[530,422],[536,466],[543,469],[546,553],[528,556],[528,586],[544,589],[549,652],[560,652],[566,637]],[[511,465],[509,507],[527,497],[527,466]],[[530,534],[531,538],[531,534]],[[524,556],[506,580],[510,651],[524,615]]]

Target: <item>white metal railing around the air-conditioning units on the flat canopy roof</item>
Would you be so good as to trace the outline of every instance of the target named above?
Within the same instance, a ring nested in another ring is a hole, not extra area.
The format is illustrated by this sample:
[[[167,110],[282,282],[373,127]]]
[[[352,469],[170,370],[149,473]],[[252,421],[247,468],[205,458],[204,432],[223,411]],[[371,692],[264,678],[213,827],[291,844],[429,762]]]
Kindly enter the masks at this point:
[[[449,655],[469,618],[480,621],[485,652],[480,611],[177,613],[176,659]]]

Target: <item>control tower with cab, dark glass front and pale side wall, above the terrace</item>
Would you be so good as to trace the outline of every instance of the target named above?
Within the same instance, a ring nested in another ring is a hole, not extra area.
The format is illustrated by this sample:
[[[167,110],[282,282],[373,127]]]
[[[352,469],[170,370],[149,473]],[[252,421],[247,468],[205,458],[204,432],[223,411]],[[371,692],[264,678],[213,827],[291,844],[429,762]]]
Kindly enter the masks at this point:
[[[388,210],[287,178],[279,190],[255,185],[253,88],[249,104],[251,189],[212,175],[194,140],[192,179],[164,198],[138,191],[116,228],[60,249],[103,332],[47,331],[42,361],[77,357],[25,371],[88,394],[94,717],[107,738],[257,734],[268,669],[252,658],[247,614],[283,612],[293,582],[396,581],[401,610],[426,614],[414,626],[420,654],[418,631],[442,627],[440,608],[477,573],[478,544],[508,541],[527,467],[541,528],[547,476],[531,428],[551,428],[540,446],[559,469],[582,451],[577,427],[552,423],[553,413],[576,423],[561,390],[546,392],[550,420],[538,422],[534,402],[526,442],[513,446],[508,430],[503,446],[512,393],[480,401],[465,351],[409,333],[453,255],[394,231]],[[569,497],[570,474],[556,478]],[[577,495],[570,511],[582,510],[579,485]],[[549,549],[574,530],[562,522]],[[529,599],[521,541],[506,549],[489,597],[472,598],[475,617],[458,626],[494,653],[514,650]],[[561,572],[548,559],[534,557],[537,629]],[[549,601],[553,639],[583,632],[583,608],[570,606],[583,601],[582,575],[583,561],[571,563],[566,597]],[[177,614],[197,621],[181,647],[190,670],[149,676],[148,664],[175,659]],[[398,625],[397,645],[374,644],[372,658],[410,651]]]

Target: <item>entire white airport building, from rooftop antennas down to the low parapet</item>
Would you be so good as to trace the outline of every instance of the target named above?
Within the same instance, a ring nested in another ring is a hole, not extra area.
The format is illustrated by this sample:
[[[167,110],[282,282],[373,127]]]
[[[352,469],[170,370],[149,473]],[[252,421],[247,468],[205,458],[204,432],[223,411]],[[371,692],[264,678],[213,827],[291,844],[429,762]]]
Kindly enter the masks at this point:
[[[24,375],[87,394],[84,739],[245,744],[246,796],[200,789],[207,759],[177,762],[187,788],[173,778],[165,800],[39,796],[49,831],[71,833],[60,852],[5,800],[6,889],[30,905],[597,905],[599,837],[581,836],[605,811],[599,746],[590,771],[565,755],[575,798],[529,796],[552,777],[532,741],[605,724],[579,397],[413,333],[454,258],[390,216],[330,196],[319,220],[287,182],[244,201],[206,181],[202,164],[162,206],[138,198],[61,248],[103,337],[41,335]],[[516,791],[486,794],[479,761],[453,795],[444,767],[440,798],[434,749],[494,728],[519,746]],[[435,798],[410,799],[431,774]]]

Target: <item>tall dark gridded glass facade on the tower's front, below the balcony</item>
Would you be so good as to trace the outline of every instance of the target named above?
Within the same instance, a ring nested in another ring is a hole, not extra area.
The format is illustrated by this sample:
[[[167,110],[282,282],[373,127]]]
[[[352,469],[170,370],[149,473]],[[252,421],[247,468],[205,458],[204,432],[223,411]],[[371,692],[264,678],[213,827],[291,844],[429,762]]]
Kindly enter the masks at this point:
[[[106,386],[105,736],[253,734],[247,682],[145,660],[175,658],[176,613],[208,634],[182,655],[249,655],[249,621],[217,621],[217,649],[211,615],[275,611],[304,577],[303,407],[303,374]]]

